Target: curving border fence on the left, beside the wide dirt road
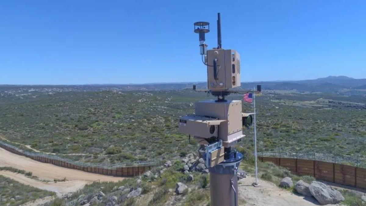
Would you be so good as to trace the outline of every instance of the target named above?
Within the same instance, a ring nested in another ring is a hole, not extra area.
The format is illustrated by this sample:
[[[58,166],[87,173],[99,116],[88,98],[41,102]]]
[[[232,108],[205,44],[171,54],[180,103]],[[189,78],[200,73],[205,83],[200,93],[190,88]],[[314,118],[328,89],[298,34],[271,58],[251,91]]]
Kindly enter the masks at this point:
[[[66,158],[61,158],[56,155],[42,154],[39,152],[28,152],[19,149],[18,147],[7,144],[0,141],[0,147],[14,154],[23,155],[25,157],[34,159],[39,162],[51,163],[56,166],[82,170],[84,172],[110,175],[110,176],[120,176],[120,177],[133,177],[139,176],[144,172],[150,170],[153,166],[160,164],[159,161],[149,161],[149,162],[135,162],[135,163],[117,163],[113,165],[103,165],[94,164],[86,162],[73,161]]]

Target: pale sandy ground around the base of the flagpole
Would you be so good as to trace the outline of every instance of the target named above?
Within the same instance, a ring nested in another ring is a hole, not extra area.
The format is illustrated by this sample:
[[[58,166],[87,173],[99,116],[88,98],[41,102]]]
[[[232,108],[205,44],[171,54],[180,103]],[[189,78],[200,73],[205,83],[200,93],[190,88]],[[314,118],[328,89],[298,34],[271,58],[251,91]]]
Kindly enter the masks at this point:
[[[277,185],[259,180],[259,187],[253,187],[255,177],[247,175],[239,180],[239,198],[244,200],[245,206],[311,206],[319,205],[314,198],[298,196],[290,191],[281,189]],[[241,183],[241,184],[240,184]],[[240,202],[240,201],[239,201]],[[330,205],[328,205],[330,206]]]

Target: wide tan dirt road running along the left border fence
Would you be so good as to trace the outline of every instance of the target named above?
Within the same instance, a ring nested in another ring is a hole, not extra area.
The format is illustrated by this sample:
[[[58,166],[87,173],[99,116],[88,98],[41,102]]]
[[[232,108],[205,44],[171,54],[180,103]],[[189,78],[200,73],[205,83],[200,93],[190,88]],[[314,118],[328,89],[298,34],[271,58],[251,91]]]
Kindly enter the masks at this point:
[[[100,181],[120,181],[123,177],[105,176],[83,172],[75,169],[62,168],[49,163],[42,163],[33,159],[16,155],[3,148],[0,148],[0,166],[9,166],[12,168],[23,169],[27,172],[32,172],[34,176],[44,180],[52,180],[66,177],[66,180],[81,180],[86,183],[94,180]]]

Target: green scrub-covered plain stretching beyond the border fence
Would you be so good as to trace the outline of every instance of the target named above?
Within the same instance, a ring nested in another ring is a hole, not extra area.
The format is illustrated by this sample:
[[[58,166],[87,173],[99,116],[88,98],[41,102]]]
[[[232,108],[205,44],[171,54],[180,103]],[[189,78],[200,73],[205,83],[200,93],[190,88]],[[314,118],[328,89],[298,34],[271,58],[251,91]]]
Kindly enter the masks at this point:
[[[213,98],[188,89],[32,95],[0,96],[0,137],[24,150],[93,163],[171,159],[197,150],[178,132],[178,118],[194,113],[195,102]],[[265,91],[256,99],[259,154],[311,158],[316,152],[348,155],[353,162],[354,155],[366,155],[365,96]],[[251,112],[251,104],[244,103],[243,111]],[[238,147],[252,150],[251,129],[244,134]]]

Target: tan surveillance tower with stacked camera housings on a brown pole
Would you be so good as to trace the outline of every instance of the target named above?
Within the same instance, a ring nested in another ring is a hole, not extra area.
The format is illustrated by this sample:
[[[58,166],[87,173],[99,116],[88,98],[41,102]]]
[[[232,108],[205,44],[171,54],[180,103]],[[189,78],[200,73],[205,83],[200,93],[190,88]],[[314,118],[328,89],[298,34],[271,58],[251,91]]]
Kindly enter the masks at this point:
[[[202,62],[207,66],[205,91],[216,100],[195,104],[195,113],[179,119],[179,131],[193,135],[206,145],[203,155],[210,171],[211,206],[238,205],[237,170],[243,155],[233,146],[242,140],[243,126],[252,124],[253,113],[242,113],[241,100],[226,100],[230,89],[240,87],[240,55],[233,49],[221,46],[221,20],[217,14],[217,48],[207,50],[205,34],[210,32],[209,22],[195,22],[194,32],[199,34]]]

